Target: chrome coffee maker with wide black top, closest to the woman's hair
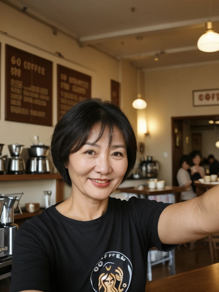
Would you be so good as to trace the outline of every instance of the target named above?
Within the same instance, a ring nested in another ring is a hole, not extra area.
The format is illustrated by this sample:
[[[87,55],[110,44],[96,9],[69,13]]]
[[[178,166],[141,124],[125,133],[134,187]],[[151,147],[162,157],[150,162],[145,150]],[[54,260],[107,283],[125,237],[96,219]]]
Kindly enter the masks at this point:
[[[27,160],[26,173],[50,173],[50,162],[47,157],[49,146],[39,143],[28,148],[29,159]]]

